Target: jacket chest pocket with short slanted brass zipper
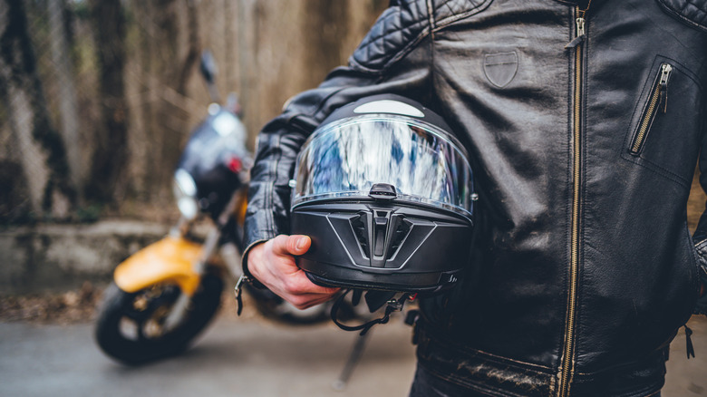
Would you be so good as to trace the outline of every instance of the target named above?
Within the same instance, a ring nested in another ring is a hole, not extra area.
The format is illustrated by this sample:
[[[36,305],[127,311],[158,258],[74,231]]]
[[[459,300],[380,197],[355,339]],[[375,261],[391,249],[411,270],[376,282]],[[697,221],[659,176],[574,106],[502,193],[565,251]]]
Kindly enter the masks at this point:
[[[702,130],[702,89],[682,64],[657,56],[621,157],[689,189]]]

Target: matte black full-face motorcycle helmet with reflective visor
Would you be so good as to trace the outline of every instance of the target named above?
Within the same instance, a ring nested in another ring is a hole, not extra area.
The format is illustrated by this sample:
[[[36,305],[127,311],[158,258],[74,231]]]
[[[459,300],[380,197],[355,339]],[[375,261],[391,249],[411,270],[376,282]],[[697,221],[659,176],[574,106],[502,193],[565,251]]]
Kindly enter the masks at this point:
[[[470,263],[468,155],[439,115],[398,95],[334,111],[291,180],[298,266],[322,286],[403,293],[452,286]]]

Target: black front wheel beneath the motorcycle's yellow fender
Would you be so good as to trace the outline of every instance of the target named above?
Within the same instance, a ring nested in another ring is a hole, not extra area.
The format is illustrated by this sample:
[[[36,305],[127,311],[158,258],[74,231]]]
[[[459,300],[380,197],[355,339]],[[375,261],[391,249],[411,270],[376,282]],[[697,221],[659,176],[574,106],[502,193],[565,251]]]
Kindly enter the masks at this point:
[[[98,311],[95,340],[111,358],[136,365],[183,352],[218,312],[223,281],[207,273],[191,296],[178,324],[160,333],[160,322],[181,294],[176,285],[153,286],[135,293],[111,283]]]

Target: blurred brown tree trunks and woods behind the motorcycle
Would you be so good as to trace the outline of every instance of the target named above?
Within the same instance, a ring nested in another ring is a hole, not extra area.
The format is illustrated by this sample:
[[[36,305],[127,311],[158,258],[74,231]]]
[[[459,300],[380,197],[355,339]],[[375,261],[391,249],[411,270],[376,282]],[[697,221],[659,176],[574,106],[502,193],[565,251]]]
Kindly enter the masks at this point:
[[[387,0],[0,1],[0,223],[162,220],[208,92],[253,137],[363,38]]]

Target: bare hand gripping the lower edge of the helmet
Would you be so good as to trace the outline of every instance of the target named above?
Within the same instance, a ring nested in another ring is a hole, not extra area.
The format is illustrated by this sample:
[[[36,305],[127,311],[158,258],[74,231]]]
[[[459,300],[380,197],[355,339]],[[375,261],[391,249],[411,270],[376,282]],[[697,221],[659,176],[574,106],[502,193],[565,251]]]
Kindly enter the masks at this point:
[[[311,245],[306,236],[279,235],[250,249],[248,270],[257,281],[298,309],[322,304],[339,288],[317,286],[297,267],[295,256],[305,254]]]

